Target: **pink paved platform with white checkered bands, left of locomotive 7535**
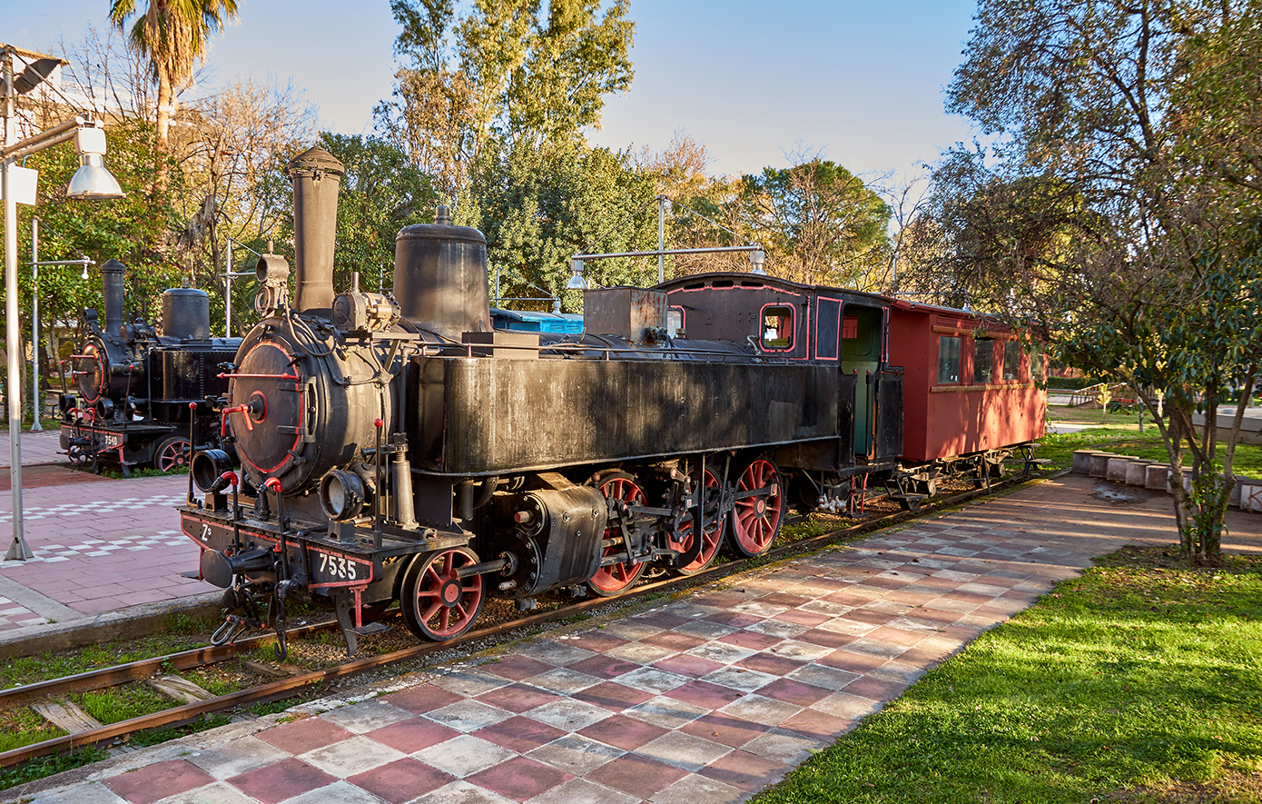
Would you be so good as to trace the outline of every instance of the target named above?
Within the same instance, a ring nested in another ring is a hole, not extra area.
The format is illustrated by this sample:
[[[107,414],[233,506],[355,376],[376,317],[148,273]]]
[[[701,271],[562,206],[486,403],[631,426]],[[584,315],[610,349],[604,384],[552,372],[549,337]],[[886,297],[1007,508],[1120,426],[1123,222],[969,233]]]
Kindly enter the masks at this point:
[[[174,510],[187,488],[187,477],[173,476],[25,490],[23,529],[34,558],[0,562],[0,594],[11,601],[5,586],[19,584],[90,617],[211,591],[179,576],[198,560]],[[0,495],[0,523],[11,521],[11,500]],[[0,632],[47,622],[38,608],[0,603]],[[67,620],[64,610],[57,620]]]

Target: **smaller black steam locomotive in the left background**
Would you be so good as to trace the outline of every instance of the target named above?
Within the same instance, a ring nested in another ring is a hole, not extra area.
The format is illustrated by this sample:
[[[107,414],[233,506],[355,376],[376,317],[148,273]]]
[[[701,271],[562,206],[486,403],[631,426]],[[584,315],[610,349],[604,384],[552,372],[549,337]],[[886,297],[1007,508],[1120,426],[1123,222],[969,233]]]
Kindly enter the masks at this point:
[[[211,337],[204,290],[170,288],[162,294],[162,332],[143,321],[124,323],[124,274],[117,260],[101,266],[105,324],[83,310],[86,336],[71,358],[77,393],[58,401],[62,449],[72,466],[117,466],[163,472],[188,466],[194,449],[221,446],[209,399],[227,393],[218,375],[241,338]]]

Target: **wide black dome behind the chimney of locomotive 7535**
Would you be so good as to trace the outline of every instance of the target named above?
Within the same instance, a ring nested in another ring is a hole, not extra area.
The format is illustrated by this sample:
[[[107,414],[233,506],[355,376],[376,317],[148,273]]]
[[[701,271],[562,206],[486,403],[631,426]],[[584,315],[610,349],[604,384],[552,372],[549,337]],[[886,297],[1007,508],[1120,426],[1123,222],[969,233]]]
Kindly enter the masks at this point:
[[[434,223],[399,230],[394,295],[413,323],[456,342],[466,332],[490,332],[482,232],[452,226],[451,215],[442,206]]]

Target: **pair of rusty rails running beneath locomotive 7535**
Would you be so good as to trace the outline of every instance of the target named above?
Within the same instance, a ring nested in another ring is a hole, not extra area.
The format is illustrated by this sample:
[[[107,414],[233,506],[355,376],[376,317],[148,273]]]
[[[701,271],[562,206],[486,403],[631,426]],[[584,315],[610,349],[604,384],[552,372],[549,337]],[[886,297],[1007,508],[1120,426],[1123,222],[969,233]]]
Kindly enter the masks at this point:
[[[647,583],[641,583],[640,586],[636,586],[628,592],[615,598],[596,597],[596,598],[581,600],[573,603],[559,606],[557,608],[551,608],[549,611],[536,612],[522,617],[507,620],[496,625],[491,625],[487,627],[476,629],[456,640],[445,642],[425,642],[420,645],[414,645],[404,650],[396,650],[392,653],[386,653],[376,656],[351,660],[319,670],[297,673],[286,678],[280,678],[274,682],[269,682],[256,687],[250,687],[247,689],[241,689],[225,695],[215,695],[199,701],[193,701],[189,703],[184,703],[182,706],[175,706],[169,709],[154,712],[151,714],[144,714],[140,717],[120,721],[116,723],[110,723],[106,726],[85,728],[83,731],[68,733],[62,737],[54,737],[52,740],[32,743],[29,746],[14,748],[11,751],[0,752],[0,767],[19,765],[21,762],[33,759],[48,756],[52,754],[59,754],[62,751],[71,751],[90,745],[98,745],[102,742],[125,740],[129,735],[150,728],[189,723],[204,714],[215,712],[222,712],[237,707],[266,703],[288,697],[294,697],[302,690],[308,690],[318,684],[324,684],[328,682],[350,678],[360,673],[376,670],[401,661],[420,659],[428,654],[433,654],[437,651],[447,651],[452,650],[453,647],[459,647],[462,645],[469,645],[478,642],[481,640],[498,637],[519,629],[528,629],[530,626],[540,625],[548,621],[573,617],[578,613],[587,612],[593,608],[617,605],[623,601],[642,598],[649,594],[660,594],[664,592],[671,592],[685,587],[714,582],[726,576],[736,574],[738,572],[750,569],[769,560],[776,560],[798,553],[810,552],[813,549],[818,549],[820,547],[846,539],[848,536],[857,536],[866,533],[871,533],[873,530],[881,530],[885,528],[890,528],[892,525],[897,525],[904,521],[919,519],[928,514],[955,507],[964,502],[970,502],[979,497],[992,495],[996,491],[1003,491],[1025,485],[1026,482],[1029,482],[1030,480],[1035,480],[1036,477],[1039,476],[1017,476],[1013,478],[997,481],[993,482],[989,486],[989,488],[976,488],[962,494],[955,494],[949,497],[936,499],[933,504],[923,505],[919,510],[897,511],[885,516],[876,516],[857,523],[854,525],[851,525],[848,528],[833,530],[825,534],[820,534],[818,536],[809,536],[795,541],[790,541],[777,548],[774,548],[766,554],[755,559],[733,559],[724,564],[711,567],[709,569],[705,569],[704,572],[697,573],[694,576],[688,576],[688,577],[673,576],[660,581],[650,581]],[[319,631],[323,630],[333,630],[333,629],[336,629],[336,622],[321,622],[321,624],[307,625],[288,631],[286,639],[298,640],[310,636],[313,634],[318,634]],[[260,645],[270,642],[274,639],[275,636],[271,634],[262,634],[249,639],[241,639],[221,647],[213,647],[213,646],[198,647],[177,654],[169,654],[165,656],[156,656],[153,659],[144,659],[129,664],[102,668],[98,670],[90,670],[86,673],[78,673],[64,678],[57,678],[45,682],[25,684],[21,687],[14,687],[10,689],[0,690],[0,708],[23,706],[28,702],[45,699],[49,695],[66,695],[77,692],[102,689],[106,687],[125,684],[129,682],[144,680],[154,677],[158,673],[170,673],[172,670],[178,671],[178,670],[188,670],[188,669],[212,665],[216,663],[221,663],[240,656],[241,654],[249,653],[255,647],[259,647]]]

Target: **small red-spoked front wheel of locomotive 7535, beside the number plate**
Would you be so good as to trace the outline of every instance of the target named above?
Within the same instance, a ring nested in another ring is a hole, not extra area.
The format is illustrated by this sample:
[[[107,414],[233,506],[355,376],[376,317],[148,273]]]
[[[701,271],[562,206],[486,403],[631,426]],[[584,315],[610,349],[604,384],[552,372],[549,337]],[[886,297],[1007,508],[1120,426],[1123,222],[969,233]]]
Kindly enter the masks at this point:
[[[404,576],[399,601],[408,630],[423,640],[442,642],[473,627],[486,602],[482,576],[461,578],[457,570],[476,563],[477,555],[464,548],[414,560]]]

